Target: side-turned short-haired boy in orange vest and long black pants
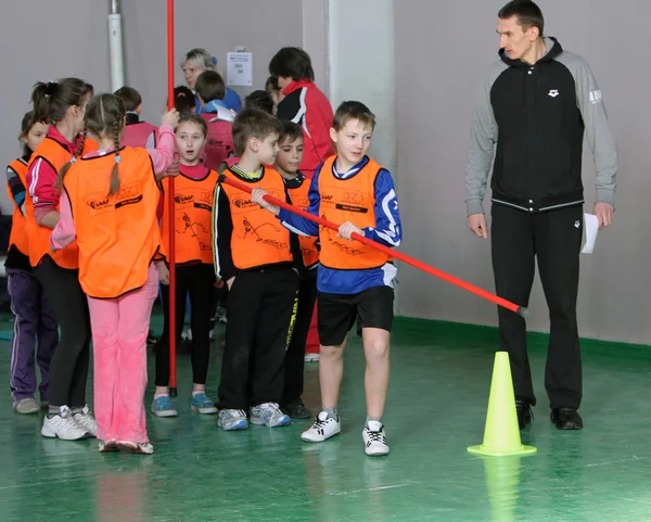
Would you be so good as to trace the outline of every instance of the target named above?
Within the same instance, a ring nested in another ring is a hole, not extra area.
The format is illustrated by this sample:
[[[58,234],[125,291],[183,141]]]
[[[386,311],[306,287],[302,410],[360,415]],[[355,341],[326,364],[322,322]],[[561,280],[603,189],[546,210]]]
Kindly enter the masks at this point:
[[[281,130],[273,116],[242,111],[233,123],[240,161],[222,175],[289,201],[282,177],[267,166],[276,162]],[[229,288],[218,425],[245,430],[247,409],[252,424],[290,424],[279,403],[303,266],[298,238],[227,183],[217,186],[213,208],[215,269]]]

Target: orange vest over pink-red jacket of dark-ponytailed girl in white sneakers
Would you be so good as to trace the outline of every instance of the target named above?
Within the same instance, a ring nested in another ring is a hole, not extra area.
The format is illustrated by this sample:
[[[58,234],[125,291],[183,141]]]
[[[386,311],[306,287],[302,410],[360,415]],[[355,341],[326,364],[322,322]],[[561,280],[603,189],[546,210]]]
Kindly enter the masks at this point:
[[[97,149],[98,143],[94,140],[87,138],[81,154],[86,154],[87,152]],[[54,170],[59,173],[61,167],[71,161],[73,154],[56,140],[46,138],[41,141],[41,144],[38,145],[34,154],[31,154],[29,167],[31,167],[34,162],[39,157],[42,157],[43,161],[52,165]],[[29,191],[28,187],[25,188]],[[59,203],[56,204],[55,209],[59,211]],[[76,242],[71,243],[68,246],[58,252],[52,252],[50,250],[50,234],[52,233],[52,229],[41,227],[36,221],[36,216],[34,215],[34,202],[31,201],[29,193],[27,193],[25,198],[25,217],[27,221],[27,234],[29,235],[29,263],[33,267],[40,265],[43,257],[49,255],[61,268],[79,268],[79,250],[77,249]]]

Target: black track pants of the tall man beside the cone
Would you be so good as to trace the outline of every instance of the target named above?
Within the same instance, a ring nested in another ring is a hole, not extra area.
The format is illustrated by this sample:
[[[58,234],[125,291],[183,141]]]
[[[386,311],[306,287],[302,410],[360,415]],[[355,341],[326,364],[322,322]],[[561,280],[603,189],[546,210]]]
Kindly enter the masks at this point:
[[[576,323],[583,208],[529,215],[493,205],[493,270],[500,297],[528,306],[535,257],[549,307],[550,336],[545,387],[552,408],[578,408],[582,364]],[[509,353],[515,396],[536,404],[522,317],[498,307],[499,347]]]

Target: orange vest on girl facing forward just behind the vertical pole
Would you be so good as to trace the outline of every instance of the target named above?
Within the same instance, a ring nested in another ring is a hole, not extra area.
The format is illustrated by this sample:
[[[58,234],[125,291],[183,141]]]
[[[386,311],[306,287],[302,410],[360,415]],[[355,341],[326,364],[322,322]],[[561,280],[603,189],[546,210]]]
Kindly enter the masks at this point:
[[[219,175],[206,168],[203,179],[183,175],[183,166],[174,179],[176,264],[199,262],[213,264],[213,194]],[[163,183],[163,220],[161,232],[165,252],[169,252],[169,179]]]

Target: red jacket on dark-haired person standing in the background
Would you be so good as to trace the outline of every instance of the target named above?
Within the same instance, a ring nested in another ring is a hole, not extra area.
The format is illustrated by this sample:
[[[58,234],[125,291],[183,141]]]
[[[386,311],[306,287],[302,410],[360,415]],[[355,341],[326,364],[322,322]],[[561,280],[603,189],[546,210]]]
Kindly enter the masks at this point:
[[[285,98],[278,104],[278,119],[289,119],[303,129],[305,148],[301,171],[311,178],[317,167],[334,154],[330,139],[332,106],[317,86],[309,80],[292,81],[282,93]]]

